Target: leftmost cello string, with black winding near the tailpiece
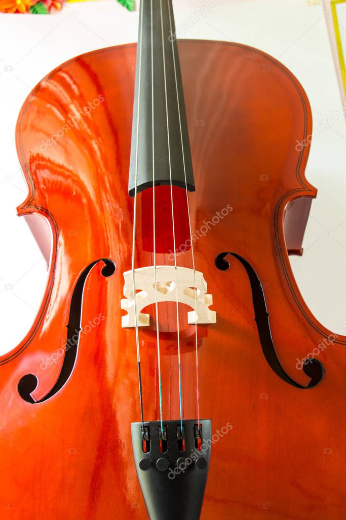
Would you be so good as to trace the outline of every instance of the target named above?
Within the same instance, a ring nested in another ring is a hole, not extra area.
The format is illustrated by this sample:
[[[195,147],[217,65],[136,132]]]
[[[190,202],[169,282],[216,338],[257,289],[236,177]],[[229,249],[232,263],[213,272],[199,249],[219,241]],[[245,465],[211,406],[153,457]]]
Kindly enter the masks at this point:
[[[136,132],[136,160],[135,160],[135,181],[134,181],[134,210],[133,210],[133,235],[132,235],[132,291],[133,291],[133,304],[134,304],[134,322],[136,330],[136,350],[137,350],[137,367],[138,367],[138,381],[140,389],[140,406],[141,406],[141,419],[142,428],[144,430],[144,414],[143,414],[143,390],[142,390],[142,373],[141,373],[141,355],[140,355],[140,341],[138,334],[138,317],[137,317],[137,303],[136,303],[136,290],[135,290],[135,245],[136,245],[136,216],[137,216],[137,178],[138,178],[138,154],[139,154],[139,127],[140,127],[140,101],[141,101],[141,72],[142,72],[142,34],[143,34],[143,4],[141,2],[141,29],[139,37],[139,80],[138,80],[138,96],[137,96],[137,132]]]

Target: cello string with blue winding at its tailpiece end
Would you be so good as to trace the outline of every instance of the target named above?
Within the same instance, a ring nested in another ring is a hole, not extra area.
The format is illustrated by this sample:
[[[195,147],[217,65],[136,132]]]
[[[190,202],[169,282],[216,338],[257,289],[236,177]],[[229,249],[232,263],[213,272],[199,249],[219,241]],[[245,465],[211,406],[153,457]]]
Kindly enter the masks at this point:
[[[176,299],[176,321],[177,321],[177,343],[178,343],[178,373],[179,373],[179,408],[180,408],[180,423],[181,423],[181,431],[183,431],[183,392],[182,392],[182,366],[181,366],[180,334],[179,334],[178,275],[177,275],[177,264],[176,264],[176,249],[175,249],[175,227],[174,227],[174,205],[173,205],[172,165],[171,165],[171,149],[170,149],[170,131],[169,131],[169,116],[168,116],[168,100],[167,100],[167,78],[166,78],[166,66],[165,66],[165,56],[164,56],[164,38],[163,38],[162,0],[160,0],[160,14],[161,14],[161,35],[162,35],[162,57],[163,57],[164,95],[165,95],[166,119],[167,119],[168,159],[169,159],[169,168],[170,168],[171,205],[172,205],[172,225],[173,225],[173,250],[174,250],[175,296],[176,296],[175,299]]]

